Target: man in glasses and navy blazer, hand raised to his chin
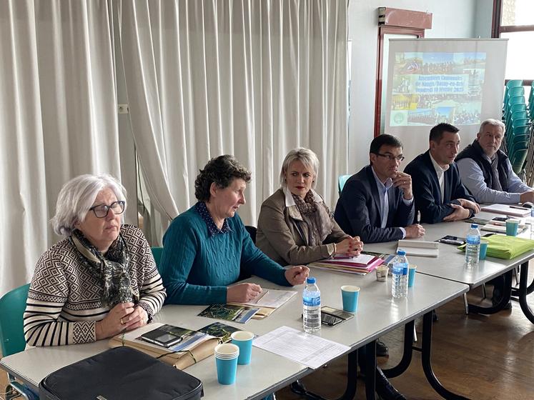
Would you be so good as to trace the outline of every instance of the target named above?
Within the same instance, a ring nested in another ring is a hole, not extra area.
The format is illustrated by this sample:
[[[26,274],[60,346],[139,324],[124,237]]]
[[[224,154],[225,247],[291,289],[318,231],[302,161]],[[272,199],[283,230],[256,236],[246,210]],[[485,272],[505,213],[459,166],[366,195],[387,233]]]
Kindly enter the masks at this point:
[[[335,207],[337,224],[365,243],[421,237],[425,229],[413,224],[412,179],[399,171],[402,143],[395,136],[377,136],[369,159],[370,165],[343,186]]]

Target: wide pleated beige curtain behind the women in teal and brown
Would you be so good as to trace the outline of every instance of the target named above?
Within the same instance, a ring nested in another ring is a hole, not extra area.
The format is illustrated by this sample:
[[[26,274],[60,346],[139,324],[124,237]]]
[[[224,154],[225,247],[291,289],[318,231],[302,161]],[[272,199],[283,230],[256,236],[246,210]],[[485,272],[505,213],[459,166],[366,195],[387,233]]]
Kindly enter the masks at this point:
[[[347,168],[347,3],[329,0],[117,1],[139,162],[154,208],[194,204],[206,162],[253,171],[240,215],[257,220],[287,151],[320,158],[328,204]]]

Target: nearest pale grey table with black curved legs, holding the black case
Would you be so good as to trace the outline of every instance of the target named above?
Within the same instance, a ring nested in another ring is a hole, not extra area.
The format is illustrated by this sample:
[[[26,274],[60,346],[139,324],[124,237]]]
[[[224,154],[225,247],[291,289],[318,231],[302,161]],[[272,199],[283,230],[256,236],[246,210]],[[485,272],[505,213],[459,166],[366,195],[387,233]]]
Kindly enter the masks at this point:
[[[351,351],[355,351],[361,346],[367,346],[369,350],[367,352],[370,353],[368,359],[372,361],[372,365],[369,366],[370,369],[374,369],[376,362],[375,339],[405,324],[407,324],[406,329],[410,331],[411,335],[413,321],[418,316],[425,315],[427,326],[424,330],[426,329],[427,334],[424,333],[422,339],[423,346],[427,346],[428,354],[428,365],[425,368],[425,373],[427,369],[430,370],[435,379],[430,367],[431,311],[464,294],[468,291],[467,285],[420,274],[417,276],[415,287],[410,289],[407,299],[394,300],[390,296],[390,280],[387,283],[377,282],[375,274],[355,276],[313,269],[312,275],[317,278],[317,283],[321,289],[322,304],[339,309],[342,308],[340,286],[343,284],[360,286],[360,299],[355,317],[337,326],[323,326],[320,336],[350,346]],[[252,280],[264,287],[277,287],[275,284],[255,277]],[[244,325],[229,324],[259,335],[282,325],[302,329],[302,289],[302,286],[293,288],[292,290],[297,291],[298,294],[265,319],[252,320]],[[199,329],[214,321],[197,316],[204,308],[205,306],[164,306],[154,320],[185,326],[190,329]],[[51,372],[97,354],[104,349],[107,349],[107,341],[52,348],[33,348],[4,357],[0,360],[0,367],[17,376],[31,388],[36,389],[39,381]],[[352,354],[351,364],[355,367],[355,353]],[[217,383],[213,357],[199,361],[198,364],[190,366],[186,371],[202,381],[204,398],[209,400],[260,399],[302,376],[310,374],[313,370],[289,359],[254,348],[252,363],[248,366],[238,366],[237,381],[234,385],[224,386]],[[369,388],[366,384],[366,391],[367,397],[374,399],[374,374],[371,375],[370,381],[372,383]],[[347,376],[347,378],[349,379],[348,386],[353,386],[356,377]],[[351,379],[354,379],[354,382],[350,381]],[[445,394],[445,397],[462,398],[450,394],[445,388],[442,388],[437,379],[435,380],[437,386],[430,378],[429,380],[435,389],[438,388],[436,390],[440,391],[440,394]],[[350,389],[348,386],[348,392],[355,390],[355,386]]]

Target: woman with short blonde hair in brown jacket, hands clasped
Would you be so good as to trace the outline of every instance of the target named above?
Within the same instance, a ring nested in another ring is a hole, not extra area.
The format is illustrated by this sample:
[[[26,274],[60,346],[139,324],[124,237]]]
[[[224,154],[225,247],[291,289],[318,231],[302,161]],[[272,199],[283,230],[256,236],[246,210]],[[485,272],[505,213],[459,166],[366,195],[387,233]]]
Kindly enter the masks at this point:
[[[318,169],[319,160],[310,149],[290,151],[280,171],[280,189],[262,204],[256,245],[279,264],[356,256],[362,250],[360,238],[342,231],[314,190]]]

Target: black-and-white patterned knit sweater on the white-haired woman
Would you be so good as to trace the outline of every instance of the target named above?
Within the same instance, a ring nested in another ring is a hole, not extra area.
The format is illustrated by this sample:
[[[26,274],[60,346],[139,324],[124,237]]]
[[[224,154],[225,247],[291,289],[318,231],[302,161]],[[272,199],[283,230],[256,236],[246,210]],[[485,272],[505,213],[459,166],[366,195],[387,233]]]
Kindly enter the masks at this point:
[[[128,271],[139,306],[156,314],[165,300],[165,289],[152,251],[142,231],[123,225],[121,234],[129,251]],[[95,324],[109,307],[102,306],[102,283],[81,264],[79,252],[69,238],[44,252],[31,279],[24,336],[31,346],[96,341]]]

